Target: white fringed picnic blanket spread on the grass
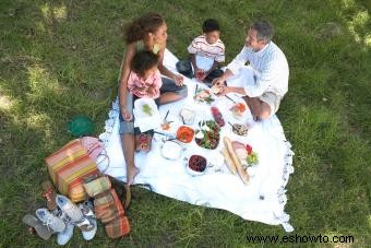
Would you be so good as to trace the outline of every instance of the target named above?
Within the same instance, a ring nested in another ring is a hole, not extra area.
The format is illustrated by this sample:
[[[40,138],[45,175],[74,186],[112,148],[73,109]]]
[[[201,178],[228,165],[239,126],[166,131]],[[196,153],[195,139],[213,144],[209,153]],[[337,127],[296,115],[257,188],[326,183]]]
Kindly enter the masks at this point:
[[[176,71],[178,59],[168,50],[165,52],[165,66]],[[193,99],[195,81],[185,79],[189,96],[177,103],[159,107],[164,118],[167,110],[167,120],[172,120],[169,132],[175,132],[182,125],[179,111],[182,107],[189,107],[196,113],[193,127],[199,120],[212,119],[210,105],[195,103]],[[234,82],[231,82],[234,83]],[[202,87],[199,84],[199,87]],[[230,94],[237,102],[243,102],[238,95]],[[286,140],[283,127],[276,116],[267,120],[255,122],[248,111],[241,120],[236,120],[229,108],[234,105],[226,97],[217,97],[212,104],[218,106],[225,120],[220,137],[229,137],[231,140],[249,143],[259,154],[259,164],[249,167],[250,182],[243,185],[237,175],[229,173],[219,151],[224,146],[220,143],[216,150],[206,150],[198,146],[194,141],[185,144],[182,156],[177,161],[169,161],[161,155],[163,137],[155,134],[149,153],[135,154],[135,165],[141,173],[135,177],[134,184],[146,184],[157,193],[185,201],[196,205],[216,208],[232,212],[244,220],[258,221],[271,225],[282,224],[286,232],[294,231],[289,224],[289,215],[285,213],[286,185],[289,175],[294,173],[291,145]],[[105,132],[99,135],[104,141],[110,158],[107,174],[125,180],[125,163],[121,150],[119,135],[119,106],[117,101],[112,104],[109,118],[106,121]],[[248,122],[250,130],[248,137],[238,137],[231,131],[227,121]],[[185,172],[184,158],[191,154],[200,154],[207,157],[210,166],[202,176],[190,176]],[[105,167],[105,165],[103,165]]]

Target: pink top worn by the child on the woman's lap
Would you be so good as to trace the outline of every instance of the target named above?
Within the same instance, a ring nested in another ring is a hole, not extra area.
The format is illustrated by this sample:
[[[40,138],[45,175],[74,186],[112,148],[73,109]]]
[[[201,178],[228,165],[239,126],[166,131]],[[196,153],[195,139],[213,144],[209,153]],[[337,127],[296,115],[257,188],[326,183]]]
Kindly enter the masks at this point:
[[[158,70],[156,73],[151,74],[146,80],[143,80],[135,72],[131,71],[128,80],[128,88],[130,93],[140,98],[157,98],[159,96],[159,88],[161,85],[161,75]]]

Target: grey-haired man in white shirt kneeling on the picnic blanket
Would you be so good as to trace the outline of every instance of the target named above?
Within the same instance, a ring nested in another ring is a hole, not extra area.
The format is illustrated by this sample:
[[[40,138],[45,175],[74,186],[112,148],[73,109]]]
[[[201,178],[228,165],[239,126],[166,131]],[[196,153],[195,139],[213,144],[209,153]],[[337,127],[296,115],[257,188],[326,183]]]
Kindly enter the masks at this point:
[[[213,81],[222,87],[220,95],[236,92],[244,95],[254,119],[273,116],[288,88],[288,63],[284,52],[272,42],[273,27],[266,21],[254,22],[247,29],[246,44],[240,54],[227,66],[225,73]],[[249,61],[252,76],[242,76],[239,86],[225,86],[232,75],[239,75]]]

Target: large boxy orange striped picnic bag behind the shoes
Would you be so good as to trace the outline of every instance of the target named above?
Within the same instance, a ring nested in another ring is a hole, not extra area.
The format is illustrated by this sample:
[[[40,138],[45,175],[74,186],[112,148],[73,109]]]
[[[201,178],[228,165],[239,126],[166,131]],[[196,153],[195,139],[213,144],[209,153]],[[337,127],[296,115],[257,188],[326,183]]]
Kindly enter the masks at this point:
[[[98,174],[96,163],[88,156],[81,140],[72,140],[59,151],[45,158],[51,180],[59,192],[73,202],[86,199],[83,178]]]

